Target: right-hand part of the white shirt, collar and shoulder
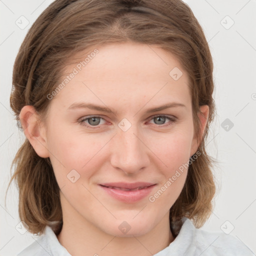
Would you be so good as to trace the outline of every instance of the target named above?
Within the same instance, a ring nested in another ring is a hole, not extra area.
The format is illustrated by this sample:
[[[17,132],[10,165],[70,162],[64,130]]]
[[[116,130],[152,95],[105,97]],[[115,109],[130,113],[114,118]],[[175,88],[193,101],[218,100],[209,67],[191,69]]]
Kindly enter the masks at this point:
[[[175,227],[175,223],[173,227]],[[182,226],[175,239],[154,256],[255,256],[238,238],[223,232],[208,232],[196,228],[182,218]]]

